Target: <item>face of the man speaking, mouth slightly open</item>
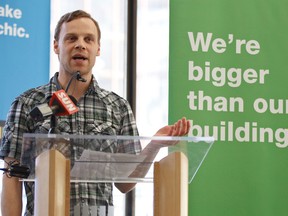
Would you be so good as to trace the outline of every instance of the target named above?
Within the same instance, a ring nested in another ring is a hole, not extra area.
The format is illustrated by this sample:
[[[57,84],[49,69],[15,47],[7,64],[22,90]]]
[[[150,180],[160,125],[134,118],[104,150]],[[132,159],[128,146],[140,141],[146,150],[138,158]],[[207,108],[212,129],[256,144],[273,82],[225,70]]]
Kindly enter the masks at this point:
[[[81,75],[91,74],[100,54],[98,32],[95,24],[89,18],[79,18],[63,23],[59,41],[54,41],[54,51],[60,61],[60,73]]]

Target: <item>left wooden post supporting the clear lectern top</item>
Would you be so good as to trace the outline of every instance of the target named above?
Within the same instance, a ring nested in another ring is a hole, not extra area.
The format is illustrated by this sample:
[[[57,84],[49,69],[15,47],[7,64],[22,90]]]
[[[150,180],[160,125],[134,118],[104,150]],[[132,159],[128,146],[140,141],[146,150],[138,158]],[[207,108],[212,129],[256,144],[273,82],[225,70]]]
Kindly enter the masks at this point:
[[[70,160],[57,150],[36,158],[35,216],[70,215]]]

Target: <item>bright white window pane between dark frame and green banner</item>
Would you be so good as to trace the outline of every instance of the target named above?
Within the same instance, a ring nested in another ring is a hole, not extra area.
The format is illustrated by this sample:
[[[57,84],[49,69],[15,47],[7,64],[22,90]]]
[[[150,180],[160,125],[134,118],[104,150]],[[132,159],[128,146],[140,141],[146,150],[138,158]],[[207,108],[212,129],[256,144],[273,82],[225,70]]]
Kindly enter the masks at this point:
[[[168,121],[168,51],[169,0],[138,0],[136,119],[142,135],[152,136]],[[137,185],[135,215],[153,215],[152,197],[153,184]]]

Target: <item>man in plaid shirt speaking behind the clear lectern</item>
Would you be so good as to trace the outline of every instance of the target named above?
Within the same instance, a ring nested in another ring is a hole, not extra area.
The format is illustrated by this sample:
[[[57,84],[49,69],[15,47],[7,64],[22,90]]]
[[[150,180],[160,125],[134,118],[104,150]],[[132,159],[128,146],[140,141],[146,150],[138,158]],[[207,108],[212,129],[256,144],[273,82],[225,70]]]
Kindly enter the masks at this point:
[[[5,124],[0,151],[0,157],[4,158],[6,163],[19,161],[24,133],[48,133],[51,126],[50,117],[37,122],[29,113],[35,106],[49,102],[53,93],[60,89],[66,89],[69,95],[76,98],[79,111],[70,116],[58,117],[56,133],[138,136],[128,102],[113,92],[101,89],[92,75],[96,57],[100,55],[100,37],[98,23],[86,12],[78,10],[61,17],[54,35],[54,52],[60,62],[59,72],[48,84],[24,92],[13,102]],[[81,79],[86,82],[73,79],[76,72],[80,72]],[[189,122],[183,118],[175,125],[161,128],[156,135],[182,136],[188,133],[189,128]],[[153,158],[159,148],[160,146],[151,143],[141,151],[139,144],[132,143],[130,146],[122,147],[121,152],[141,152],[147,158]],[[115,185],[124,193],[134,187],[133,184]],[[34,184],[25,183],[25,191],[26,215],[33,215]],[[112,185],[71,184],[71,214],[79,202],[87,206],[107,203],[112,205]],[[1,211],[3,216],[21,214],[22,183],[16,177],[8,178],[3,175]]]

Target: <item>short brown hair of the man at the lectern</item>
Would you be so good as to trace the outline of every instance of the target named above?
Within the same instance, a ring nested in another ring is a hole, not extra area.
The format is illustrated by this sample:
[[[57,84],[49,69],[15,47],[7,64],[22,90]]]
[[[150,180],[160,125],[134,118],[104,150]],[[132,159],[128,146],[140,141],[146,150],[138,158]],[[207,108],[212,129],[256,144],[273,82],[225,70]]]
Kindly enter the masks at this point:
[[[61,31],[61,27],[63,23],[68,23],[68,22],[71,22],[72,20],[79,19],[79,18],[89,18],[94,22],[97,32],[98,32],[98,43],[100,44],[101,31],[100,31],[99,24],[95,19],[93,19],[93,17],[89,13],[83,10],[76,10],[76,11],[72,11],[70,13],[64,14],[56,25],[54,39],[56,41],[59,40],[59,35],[60,35],[60,31]]]

